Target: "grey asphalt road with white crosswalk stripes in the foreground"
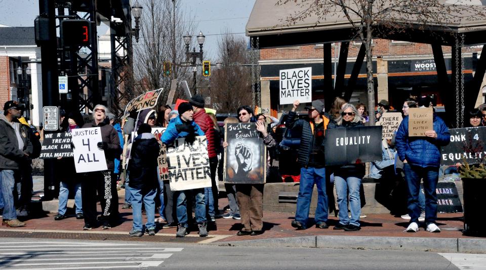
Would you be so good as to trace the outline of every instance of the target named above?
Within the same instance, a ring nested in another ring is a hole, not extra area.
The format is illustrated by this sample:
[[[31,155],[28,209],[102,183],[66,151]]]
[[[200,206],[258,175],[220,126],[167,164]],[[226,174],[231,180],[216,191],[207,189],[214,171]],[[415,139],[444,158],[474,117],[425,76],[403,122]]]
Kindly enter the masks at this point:
[[[451,262],[452,260],[452,262]],[[0,269],[484,269],[486,254],[2,239]]]

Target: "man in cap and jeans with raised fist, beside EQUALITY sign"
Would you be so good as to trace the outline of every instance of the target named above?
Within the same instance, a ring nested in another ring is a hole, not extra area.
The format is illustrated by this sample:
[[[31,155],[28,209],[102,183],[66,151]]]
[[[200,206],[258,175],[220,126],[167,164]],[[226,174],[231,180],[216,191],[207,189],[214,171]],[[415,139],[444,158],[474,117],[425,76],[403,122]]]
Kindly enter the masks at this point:
[[[324,148],[322,146],[325,131],[330,119],[324,112],[324,103],[320,100],[312,101],[312,105],[305,107],[308,110],[307,119],[295,119],[295,110],[300,105],[299,100],[294,101],[294,107],[287,114],[286,127],[302,132],[299,147],[298,162],[300,169],[299,195],[297,197],[297,210],[292,227],[307,228],[310,201],[314,184],[317,185],[317,208],[315,210],[315,226],[328,228],[328,195],[326,193],[326,168],[324,167]]]

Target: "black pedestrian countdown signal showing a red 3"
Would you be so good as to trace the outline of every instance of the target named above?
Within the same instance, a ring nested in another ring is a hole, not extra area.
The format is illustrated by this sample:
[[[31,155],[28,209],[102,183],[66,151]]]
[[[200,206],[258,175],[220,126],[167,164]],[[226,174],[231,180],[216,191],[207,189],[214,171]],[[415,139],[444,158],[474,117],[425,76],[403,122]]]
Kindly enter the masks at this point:
[[[62,20],[61,44],[63,47],[87,46],[91,42],[89,20]]]

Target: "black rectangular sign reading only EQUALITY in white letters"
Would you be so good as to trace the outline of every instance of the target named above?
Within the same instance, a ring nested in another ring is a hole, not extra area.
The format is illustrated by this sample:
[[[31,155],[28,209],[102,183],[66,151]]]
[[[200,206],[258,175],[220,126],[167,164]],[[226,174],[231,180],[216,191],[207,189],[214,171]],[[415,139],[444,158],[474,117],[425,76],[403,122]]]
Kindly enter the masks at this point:
[[[324,137],[326,165],[381,161],[381,126],[328,129]]]

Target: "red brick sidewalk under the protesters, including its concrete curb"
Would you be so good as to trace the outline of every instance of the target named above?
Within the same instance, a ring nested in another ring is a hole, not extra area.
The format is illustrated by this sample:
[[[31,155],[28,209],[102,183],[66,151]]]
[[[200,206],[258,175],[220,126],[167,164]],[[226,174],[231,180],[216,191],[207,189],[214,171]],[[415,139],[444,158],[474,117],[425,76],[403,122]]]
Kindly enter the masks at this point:
[[[123,194],[123,192],[121,192]],[[120,194],[120,195],[121,195]],[[83,231],[83,220],[77,220],[72,215],[64,220],[55,221],[55,213],[44,212],[35,218],[27,220],[27,226],[22,228],[8,228],[2,226],[0,237],[31,237],[31,238],[62,238],[62,239],[109,239],[123,241],[158,241],[184,242],[212,245],[234,246],[289,246],[289,247],[330,247],[356,249],[397,249],[436,252],[473,252],[486,253],[486,238],[473,238],[462,235],[464,227],[463,214],[438,214],[438,225],[441,233],[429,233],[421,224],[419,232],[406,233],[408,221],[390,214],[370,214],[361,219],[361,230],[344,232],[333,230],[338,218],[329,217],[328,229],[314,226],[306,230],[295,230],[291,226],[292,213],[264,211],[264,230],[260,236],[236,236],[241,228],[239,220],[217,219],[210,225],[210,237],[199,238],[197,232],[191,232],[185,238],[176,238],[176,228],[159,228],[155,237],[143,236],[129,238],[128,232],[132,227],[132,210],[123,210],[124,199],[119,200],[121,224],[109,230],[101,227],[91,231]],[[221,198],[219,206],[227,205],[227,200]],[[99,209],[100,211],[100,209]],[[222,211],[222,210],[221,210]],[[155,215],[156,217],[158,215]],[[145,218],[145,217],[144,217]],[[133,239],[133,240],[132,240]]]

